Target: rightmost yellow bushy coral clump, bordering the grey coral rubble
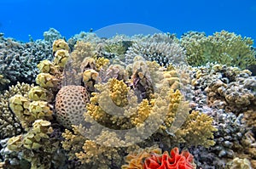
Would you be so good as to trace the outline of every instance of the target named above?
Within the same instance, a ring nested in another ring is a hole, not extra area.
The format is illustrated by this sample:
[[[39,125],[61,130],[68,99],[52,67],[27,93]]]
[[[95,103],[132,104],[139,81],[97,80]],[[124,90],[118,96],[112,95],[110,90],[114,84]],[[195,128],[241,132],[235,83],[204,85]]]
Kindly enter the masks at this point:
[[[201,114],[199,111],[192,111],[187,121],[175,133],[181,142],[189,145],[202,145],[210,147],[215,144],[212,140],[213,132],[217,129],[212,126],[213,119],[211,116]]]

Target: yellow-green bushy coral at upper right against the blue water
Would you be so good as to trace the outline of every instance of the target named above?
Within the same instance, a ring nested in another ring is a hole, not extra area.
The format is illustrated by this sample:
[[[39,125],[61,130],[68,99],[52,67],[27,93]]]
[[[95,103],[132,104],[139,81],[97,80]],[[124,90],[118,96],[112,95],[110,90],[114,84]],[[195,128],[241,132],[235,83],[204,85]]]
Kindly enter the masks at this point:
[[[255,52],[251,49],[253,40],[228,31],[216,32],[209,37],[203,33],[189,32],[181,38],[181,42],[187,51],[189,65],[217,62],[245,69],[256,62]]]

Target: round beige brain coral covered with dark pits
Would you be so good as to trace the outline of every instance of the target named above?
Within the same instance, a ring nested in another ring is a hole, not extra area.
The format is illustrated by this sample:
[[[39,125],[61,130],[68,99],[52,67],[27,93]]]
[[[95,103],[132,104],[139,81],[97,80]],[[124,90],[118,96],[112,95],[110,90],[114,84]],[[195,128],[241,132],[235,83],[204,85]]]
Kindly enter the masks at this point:
[[[56,118],[64,127],[79,125],[84,120],[86,103],[90,101],[90,94],[85,87],[66,86],[56,95],[55,110]]]

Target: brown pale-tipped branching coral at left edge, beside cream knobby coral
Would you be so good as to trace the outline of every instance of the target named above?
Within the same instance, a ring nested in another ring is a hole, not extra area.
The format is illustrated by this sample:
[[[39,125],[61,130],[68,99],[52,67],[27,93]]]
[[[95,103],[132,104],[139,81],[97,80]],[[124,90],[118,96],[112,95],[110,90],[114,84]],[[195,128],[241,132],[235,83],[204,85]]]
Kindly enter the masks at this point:
[[[15,94],[27,96],[32,87],[33,85],[18,82],[0,94],[0,139],[15,136],[22,131],[20,119],[9,108],[9,98]]]

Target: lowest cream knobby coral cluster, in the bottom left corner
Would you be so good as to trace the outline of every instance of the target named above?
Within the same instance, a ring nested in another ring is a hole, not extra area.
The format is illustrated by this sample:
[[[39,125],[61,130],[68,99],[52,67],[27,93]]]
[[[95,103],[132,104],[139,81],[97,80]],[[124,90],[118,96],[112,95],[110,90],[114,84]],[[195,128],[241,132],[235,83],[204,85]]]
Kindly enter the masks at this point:
[[[7,148],[29,161],[31,168],[50,168],[59,146],[58,140],[50,138],[53,132],[50,125],[49,121],[34,121],[32,129],[26,134],[9,138]]]

